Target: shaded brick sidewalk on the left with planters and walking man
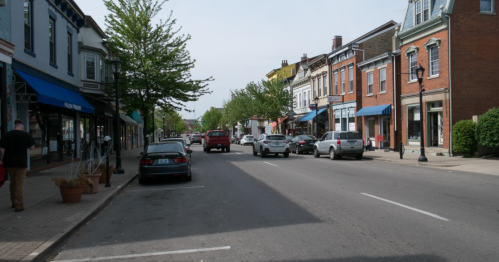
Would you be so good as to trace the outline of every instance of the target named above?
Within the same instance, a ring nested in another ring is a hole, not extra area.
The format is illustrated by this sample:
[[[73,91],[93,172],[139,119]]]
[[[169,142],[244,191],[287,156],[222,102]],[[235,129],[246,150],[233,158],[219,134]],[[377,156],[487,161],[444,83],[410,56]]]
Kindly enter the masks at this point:
[[[0,262],[45,261],[80,225],[104,208],[133,181],[142,148],[123,151],[125,174],[113,174],[111,187],[99,184],[96,194],[84,194],[77,204],[64,204],[52,177],[62,177],[69,165],[26,177],[23,212],[11,208],[9,182],[0,188]],[[114,155],[110,164],[115,163]]]

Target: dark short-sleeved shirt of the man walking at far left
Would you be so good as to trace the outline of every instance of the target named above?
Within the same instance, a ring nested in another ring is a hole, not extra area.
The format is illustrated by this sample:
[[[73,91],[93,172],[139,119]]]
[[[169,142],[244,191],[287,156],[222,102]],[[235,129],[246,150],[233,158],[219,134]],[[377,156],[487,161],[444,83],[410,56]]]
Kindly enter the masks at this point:
[[[0,147],[5,149],[3,154],[4,167],[28,167],[28,148],[35,145],[33,138],[24,131],[12,130],[5,133]]]

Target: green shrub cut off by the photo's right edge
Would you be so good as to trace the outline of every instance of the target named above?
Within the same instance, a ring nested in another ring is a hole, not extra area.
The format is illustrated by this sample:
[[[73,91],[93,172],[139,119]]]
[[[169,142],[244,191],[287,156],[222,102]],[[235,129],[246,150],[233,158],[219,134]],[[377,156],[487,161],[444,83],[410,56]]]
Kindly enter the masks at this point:
[[[492,108],[478,119],[475,138],[481,145],[499,147],[499,108]]]

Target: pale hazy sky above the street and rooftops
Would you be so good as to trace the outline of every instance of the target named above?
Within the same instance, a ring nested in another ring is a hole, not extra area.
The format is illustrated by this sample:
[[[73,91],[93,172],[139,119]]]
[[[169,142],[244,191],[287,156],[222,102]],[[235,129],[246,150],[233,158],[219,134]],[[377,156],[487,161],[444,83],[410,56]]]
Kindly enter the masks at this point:
[[[105,30],[102,0],[75,1]],[[186,103],[195,112],[179,112],[194,119],[222,107],[230,90],[265,79],[282,60],[331,52],[335,35],[348,43],[388,21],[402,22],[406,6],[407,0],[169,0],[155,21],[173,11],[180,33],[192,36],[193,79],[215,79],[212,94]]]

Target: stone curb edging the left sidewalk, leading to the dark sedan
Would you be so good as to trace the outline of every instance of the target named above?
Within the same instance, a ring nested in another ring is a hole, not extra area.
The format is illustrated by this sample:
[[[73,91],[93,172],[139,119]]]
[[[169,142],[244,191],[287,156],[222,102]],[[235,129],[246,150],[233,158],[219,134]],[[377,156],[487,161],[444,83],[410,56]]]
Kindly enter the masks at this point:
[[[97,214],[100,213],[106,206],[113,201],[116,196],[118,196],[121,192],[123,192],[128,185],[130,185],[138,175],[132,176],[128,181],[125,183],[117,186],[117,190],[112,193],[108,198],[106,199],[101,199],[97,207],[89,211],[88,214],[83,217],[78,223],[76,223],[74,226],[69,226],[66,228],[64,231],[61,231],[60,233],[57,233],[55,236],[51,237],[49,240],[45,241],[42,245],[40,245],[37,249],[35,249],[31,254],[36,254],[36,255],[27,255],[21,261],[33,261],[33,262],[44,262],[52,258],[55,253],[66,244],[66,242],[73,236],[75,232],[80,230],[85,224],[87,224],[90,220],[92,220]],[[34,256],[34,257],[33,257]]]

